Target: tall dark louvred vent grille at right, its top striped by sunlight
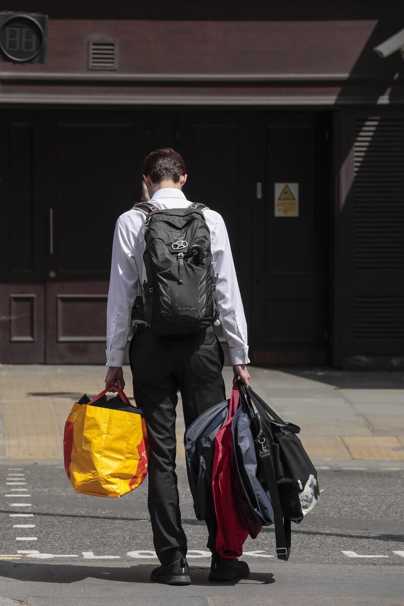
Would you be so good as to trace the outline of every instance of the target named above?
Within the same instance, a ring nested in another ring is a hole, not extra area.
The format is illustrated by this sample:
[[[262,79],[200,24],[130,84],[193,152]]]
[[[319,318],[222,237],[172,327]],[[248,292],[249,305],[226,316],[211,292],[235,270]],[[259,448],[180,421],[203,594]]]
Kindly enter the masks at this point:
[[[354,144],[354,266],[404,268],[404,120],[360,118]]]

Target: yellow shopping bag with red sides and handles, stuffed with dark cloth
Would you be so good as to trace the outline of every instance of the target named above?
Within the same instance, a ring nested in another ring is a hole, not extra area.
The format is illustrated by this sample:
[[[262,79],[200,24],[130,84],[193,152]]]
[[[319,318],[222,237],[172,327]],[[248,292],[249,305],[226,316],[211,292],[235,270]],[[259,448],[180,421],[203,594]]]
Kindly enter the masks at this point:
[[[118,395],[105,394],[116,388]],[[116,385],[73,404],[64,431],[64,461],[75,492],[122,496],[147,475],[147,430],[142,412]]]

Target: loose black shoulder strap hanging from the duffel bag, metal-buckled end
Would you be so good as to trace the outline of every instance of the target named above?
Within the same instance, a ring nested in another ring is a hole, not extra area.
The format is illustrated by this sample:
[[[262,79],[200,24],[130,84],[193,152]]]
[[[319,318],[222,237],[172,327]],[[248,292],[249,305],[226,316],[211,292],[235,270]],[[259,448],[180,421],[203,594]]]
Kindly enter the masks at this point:
[[[290,520],[283,518],[282,507],[280,507],[278,487],[276,484],[274,468],[269,451],[260,453],[265,479],[271,496],[271,505],[274,510],[276,555],[279,560],[288,561],[291,545]]]

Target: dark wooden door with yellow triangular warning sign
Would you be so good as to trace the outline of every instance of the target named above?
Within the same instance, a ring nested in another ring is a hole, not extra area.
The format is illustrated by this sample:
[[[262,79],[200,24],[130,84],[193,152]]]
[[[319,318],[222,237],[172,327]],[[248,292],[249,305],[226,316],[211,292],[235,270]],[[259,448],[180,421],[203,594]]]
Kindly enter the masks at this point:
[[[329,207],[326,124],[314,113],[256,118],[251,359],[326,361]]]

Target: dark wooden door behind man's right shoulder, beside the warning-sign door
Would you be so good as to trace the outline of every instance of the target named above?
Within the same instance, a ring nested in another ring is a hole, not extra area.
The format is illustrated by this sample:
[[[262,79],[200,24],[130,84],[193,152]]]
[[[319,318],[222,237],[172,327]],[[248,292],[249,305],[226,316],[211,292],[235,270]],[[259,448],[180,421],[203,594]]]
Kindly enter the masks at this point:
[[[177,147],[187,164],[184,193],[224,218],[247,321],[251,298],[251,115],[246,112],[181,112]],[[227,344],[217,330],[228,362]]]

